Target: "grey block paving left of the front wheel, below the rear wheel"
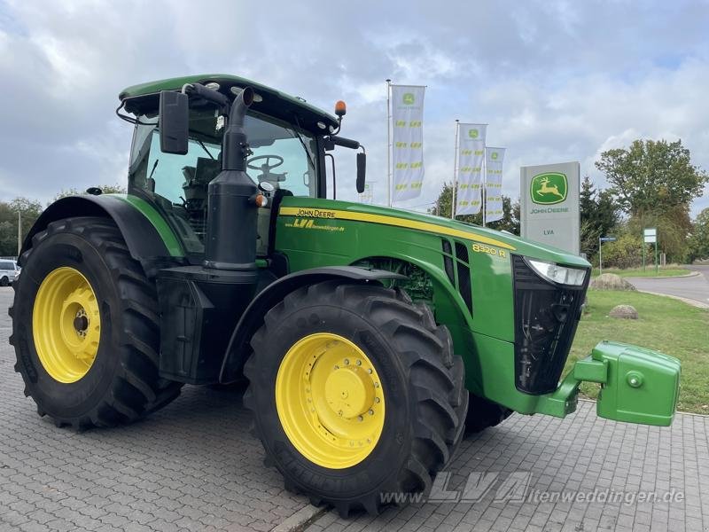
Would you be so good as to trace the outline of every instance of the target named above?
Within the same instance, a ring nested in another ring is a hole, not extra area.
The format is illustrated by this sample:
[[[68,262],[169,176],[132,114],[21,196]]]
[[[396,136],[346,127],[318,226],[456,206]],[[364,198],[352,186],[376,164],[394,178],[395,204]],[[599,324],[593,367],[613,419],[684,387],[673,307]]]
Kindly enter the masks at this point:
[[[0,531],[270,530],[308,505],[284,491],[233,392],[185,387],[131,426],[77,434],[40,418],[12,369],[0,288]]]

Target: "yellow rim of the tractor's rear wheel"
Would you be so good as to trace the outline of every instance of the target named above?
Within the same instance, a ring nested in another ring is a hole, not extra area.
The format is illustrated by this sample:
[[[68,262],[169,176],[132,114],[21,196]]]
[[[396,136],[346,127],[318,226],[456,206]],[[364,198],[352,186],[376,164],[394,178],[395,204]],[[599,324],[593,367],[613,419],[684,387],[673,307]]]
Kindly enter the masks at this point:
[[[89,372],[101,337],[96,294],[79,270],[63,266],[44,278],[32,310],[37,355],[52,379],[76,382]]]

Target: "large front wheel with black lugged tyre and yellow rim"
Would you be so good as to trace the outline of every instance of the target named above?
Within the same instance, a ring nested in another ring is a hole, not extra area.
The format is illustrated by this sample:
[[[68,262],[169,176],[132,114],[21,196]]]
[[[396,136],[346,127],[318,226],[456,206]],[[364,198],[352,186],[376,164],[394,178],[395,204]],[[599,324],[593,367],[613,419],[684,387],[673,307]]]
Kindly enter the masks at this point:
[[[468,400],[463,361],[431,310],[382,286],[327,281],[264,321],[244,402],[286,489],[343,516],[429,489],[462,438]]]

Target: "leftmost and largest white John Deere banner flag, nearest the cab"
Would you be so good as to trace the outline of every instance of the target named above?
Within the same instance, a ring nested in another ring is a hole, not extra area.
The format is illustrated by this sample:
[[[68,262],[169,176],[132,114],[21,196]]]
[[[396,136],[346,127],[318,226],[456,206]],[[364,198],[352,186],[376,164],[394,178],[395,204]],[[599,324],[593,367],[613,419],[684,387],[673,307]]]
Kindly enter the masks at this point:
[[[393,201],[421,194],[424,183],[425,87],[392,85]]]

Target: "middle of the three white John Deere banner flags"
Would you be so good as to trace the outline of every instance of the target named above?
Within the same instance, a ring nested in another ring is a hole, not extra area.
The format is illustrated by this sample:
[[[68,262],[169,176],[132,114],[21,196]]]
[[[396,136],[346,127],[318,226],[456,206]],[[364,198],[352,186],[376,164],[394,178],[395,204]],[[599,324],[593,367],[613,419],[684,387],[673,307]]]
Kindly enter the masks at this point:
[[[456,215],[477,215],[487,125],[460,124],[459,128]]]

